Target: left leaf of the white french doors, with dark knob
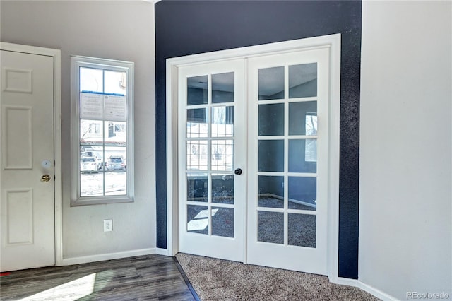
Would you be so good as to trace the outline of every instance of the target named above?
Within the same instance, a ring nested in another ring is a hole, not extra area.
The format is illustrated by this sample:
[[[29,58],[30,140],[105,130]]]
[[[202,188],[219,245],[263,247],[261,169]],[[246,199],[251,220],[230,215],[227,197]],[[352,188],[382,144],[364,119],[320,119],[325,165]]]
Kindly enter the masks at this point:
[[[180,252],[243,261],[243,76],[242,60],[179,69]]]

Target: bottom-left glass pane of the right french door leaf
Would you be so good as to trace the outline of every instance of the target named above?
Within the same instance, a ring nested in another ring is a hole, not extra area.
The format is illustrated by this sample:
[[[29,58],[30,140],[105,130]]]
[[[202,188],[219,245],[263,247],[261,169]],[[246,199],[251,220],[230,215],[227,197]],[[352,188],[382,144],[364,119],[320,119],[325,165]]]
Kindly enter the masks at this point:
[[[259,242],[284,243],[284,213],[258,211],[257,223]]]

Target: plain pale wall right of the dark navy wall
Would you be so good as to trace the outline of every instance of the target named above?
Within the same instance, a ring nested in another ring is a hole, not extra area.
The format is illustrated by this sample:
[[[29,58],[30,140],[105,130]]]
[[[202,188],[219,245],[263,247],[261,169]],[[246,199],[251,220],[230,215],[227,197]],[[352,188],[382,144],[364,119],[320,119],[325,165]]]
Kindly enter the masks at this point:
[[[452,3],[364,1],[359,280],[452,298]]]

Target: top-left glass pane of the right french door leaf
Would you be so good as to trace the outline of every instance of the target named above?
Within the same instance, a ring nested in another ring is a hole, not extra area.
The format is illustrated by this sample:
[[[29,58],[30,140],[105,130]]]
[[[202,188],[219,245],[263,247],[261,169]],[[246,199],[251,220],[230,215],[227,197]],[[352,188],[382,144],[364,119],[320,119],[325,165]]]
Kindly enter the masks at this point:
[[[284,98],[284,67],[259,69],[259,100],[277,100]]]

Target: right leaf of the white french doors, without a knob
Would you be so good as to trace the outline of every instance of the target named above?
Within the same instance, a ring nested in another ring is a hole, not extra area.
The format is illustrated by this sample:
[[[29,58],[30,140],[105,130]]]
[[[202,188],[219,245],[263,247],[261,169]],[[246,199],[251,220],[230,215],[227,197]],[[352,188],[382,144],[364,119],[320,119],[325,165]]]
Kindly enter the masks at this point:
[[[249,264],[328,272],[328,56],[249,59]]]

